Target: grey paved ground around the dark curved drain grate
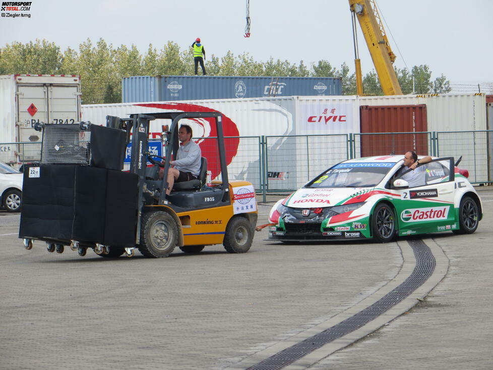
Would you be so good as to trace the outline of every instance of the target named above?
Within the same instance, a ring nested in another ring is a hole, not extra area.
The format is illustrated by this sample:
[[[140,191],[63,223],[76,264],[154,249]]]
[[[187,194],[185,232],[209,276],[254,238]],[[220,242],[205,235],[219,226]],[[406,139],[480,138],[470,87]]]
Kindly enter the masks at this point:
[[[289,368],[492,368],[493,191],[477,190],[476,233],[422,239],[438,265],[421,291]],[[278,198],[259,204],[258,224]],[[25,250],[18,227],[19,215],[0,212],[0,368],[9,370],[246,368],[374,301],[413,263],[406,238],[291,245],[265,241],[266,229],[244,254],[213,246],[108,260],[48,253],[41,242]]]

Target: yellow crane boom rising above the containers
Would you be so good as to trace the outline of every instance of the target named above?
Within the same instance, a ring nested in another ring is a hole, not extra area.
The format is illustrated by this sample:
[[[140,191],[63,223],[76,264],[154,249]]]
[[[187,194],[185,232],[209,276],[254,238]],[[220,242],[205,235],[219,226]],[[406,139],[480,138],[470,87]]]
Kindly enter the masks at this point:
[[[392,65],[395,61],[395,54],[387,39],[387,34],[380,19],[375,0],[349,0],[349,9],[353,16],[353,32],[354,34],[356,32],[354,18],[357,18],[366,45],[372,56],[373,65],[377,70],[384,95],[402,95],[401,86],[397,81],[394,66]],[[363,93],[363,84],[361,81],[361,66],[357,55],[357,45],[355,45],[355,65],[357,93],[361,95]]]

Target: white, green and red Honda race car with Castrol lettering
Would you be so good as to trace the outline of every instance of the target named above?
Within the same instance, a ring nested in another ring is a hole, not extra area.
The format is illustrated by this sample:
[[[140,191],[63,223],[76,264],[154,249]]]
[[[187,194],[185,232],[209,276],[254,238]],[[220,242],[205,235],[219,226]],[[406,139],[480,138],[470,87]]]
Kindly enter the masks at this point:
[[[398,235],[473,233],[482,206],[468,172],[454,158],[433,157],[409,170],[412,176],[398,176],[403,157],[356,158],[329,168],[272,207],[269,240],[389,242]]]

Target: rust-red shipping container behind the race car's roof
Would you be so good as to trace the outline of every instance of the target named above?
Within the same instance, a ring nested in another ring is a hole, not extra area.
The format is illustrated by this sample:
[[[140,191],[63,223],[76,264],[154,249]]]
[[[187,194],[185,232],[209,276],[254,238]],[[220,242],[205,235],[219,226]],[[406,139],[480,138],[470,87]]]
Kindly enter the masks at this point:
[[[426,105],[361,105],[360,155],[428,153]],[[381,134],[409,132],[412,134]]]

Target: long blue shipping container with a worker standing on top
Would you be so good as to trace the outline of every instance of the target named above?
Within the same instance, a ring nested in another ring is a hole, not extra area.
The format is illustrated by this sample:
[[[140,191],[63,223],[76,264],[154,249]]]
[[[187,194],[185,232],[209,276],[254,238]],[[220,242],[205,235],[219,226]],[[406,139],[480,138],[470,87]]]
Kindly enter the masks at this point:
[[[133,76],[121,83],[124,103],[234,99],[267,96],[342,95],[335,77]]]

